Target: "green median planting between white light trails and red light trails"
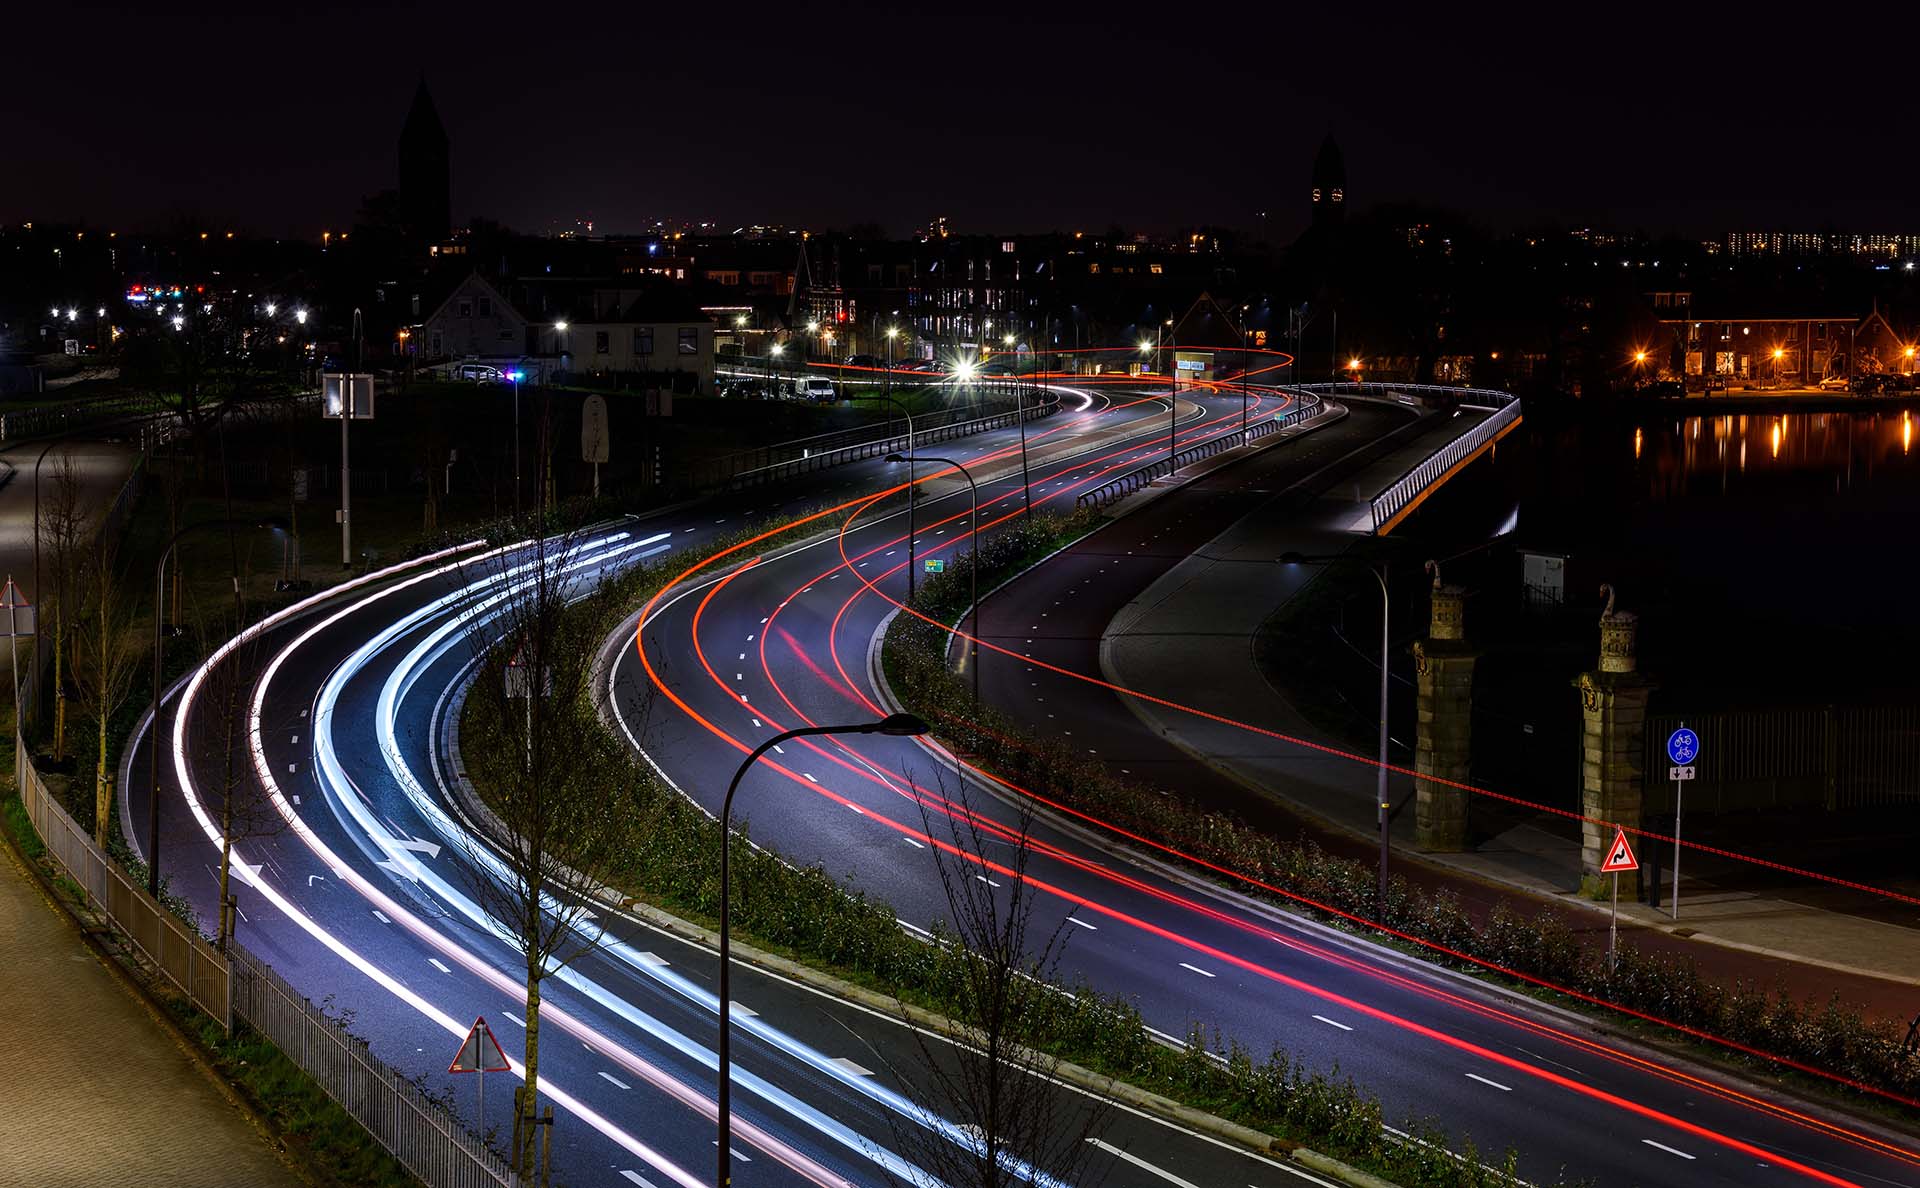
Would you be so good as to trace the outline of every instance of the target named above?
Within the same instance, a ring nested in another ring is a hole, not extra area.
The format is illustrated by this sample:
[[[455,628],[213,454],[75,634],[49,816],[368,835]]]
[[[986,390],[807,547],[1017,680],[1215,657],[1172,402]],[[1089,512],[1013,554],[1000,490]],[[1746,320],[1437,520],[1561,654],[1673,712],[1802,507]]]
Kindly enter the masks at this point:
[[[1035,516],[985,541],[983,557],[989,568],[995,562],[1012,568],[1031,564],[1098,522],[1091,514]],[[755,543],[770,547],[791,541],[814,526],[818,522]],[[699,568],[760,535],[762,532],[747,530],[705,549],[678,553],[672,566],[639,566],[611,578],[603,597],[595,599],[607,608],[605,631],[620,630],[618,606],[645,605],[668,585],[689,578],[689,566]],[[708,572],[718,574],[718,568]],[[947,605],[950,591],[966,589],[964,562],[931,580],[929,587],[924,605]],[[931,635],[945,637],[937,628]],[[463,722],[463,733],[467,729],[468,724]],[[720,908],[718,825],[637,758],[622,772],[622,779],[634,783],[630,806],[647,821],[647,829],[639,831],[637,844],[616,862],[609,883],[624,894],[710,927]],[[482,798],[490,796],[486,787],[476,791]],[[891,906],[849,889],[826,867],[799,866],[770,846],[747,843],[749,820],[737,821],[730,856],[735,871],[735,937],[887,994],[902,1010],[931,1010],[968,1029],[979,1025],[977,1010],[972,1010],[981,1000],[977,958],[956,944],[950,931],[935,933],[931,944],[912,937]],[[1269,1134],[1275,1150],[1313,1148],[1407,1188],[1521,1184],[1513,1152],[1486,1165],[1471,1140],[1453,1144],[1425,1121],[1413,1121],[1396,1134],[1386,1125],[1382,1105],[1338,1069],[1308,1069],[1279,1050],[1256,1056],[1231,1040],[1208,1036],[1198,1027],[1187,1034],[1185,1044],[1173,1046],[1156,1038],[1139,1010],[1123,998],[1085,985],[1060,990],[1033,996],[1033,1017],[1020,1027],[1021,1040],[1050,1057]]]

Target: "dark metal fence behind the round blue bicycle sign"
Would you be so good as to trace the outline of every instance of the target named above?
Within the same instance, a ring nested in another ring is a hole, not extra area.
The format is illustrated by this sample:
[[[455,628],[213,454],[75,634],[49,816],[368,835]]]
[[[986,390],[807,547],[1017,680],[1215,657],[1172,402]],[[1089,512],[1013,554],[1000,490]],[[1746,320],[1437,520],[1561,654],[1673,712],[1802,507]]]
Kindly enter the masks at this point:
[[[1920,706],[1807,706],[1649,714],[1647,812],[1672,812],[1667,737],[1680,725],[1701,743],[1688,812],[1920,802]]]

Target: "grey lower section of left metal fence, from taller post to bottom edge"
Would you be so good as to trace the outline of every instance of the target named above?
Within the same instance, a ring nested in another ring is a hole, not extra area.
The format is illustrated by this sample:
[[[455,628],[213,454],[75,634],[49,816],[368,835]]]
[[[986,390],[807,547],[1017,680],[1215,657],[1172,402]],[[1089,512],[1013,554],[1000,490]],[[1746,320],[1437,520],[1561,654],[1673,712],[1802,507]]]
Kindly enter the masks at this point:
[[[232,944],[232,1008],[319,1081],[407,1171],[436,1188],[511,1188],[518,1176],[424,1088],[376,1057],[367,1040]]]

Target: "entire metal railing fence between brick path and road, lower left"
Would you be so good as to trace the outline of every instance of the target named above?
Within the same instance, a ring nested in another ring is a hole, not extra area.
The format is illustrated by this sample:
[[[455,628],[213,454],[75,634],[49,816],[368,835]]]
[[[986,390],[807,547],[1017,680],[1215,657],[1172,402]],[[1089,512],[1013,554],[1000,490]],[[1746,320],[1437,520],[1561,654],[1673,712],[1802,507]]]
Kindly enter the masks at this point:
[[[242,1021],[273,1040],[351,1113],[407,1171],[432,1188],[516,1188],[520,1182],[444,1104],[372,1056],[265,962],[232,946],[230,960],[161,908],[119,869],[48,793],[25,747],[15,747],[21,802],[48,854],[86,898],[180,994],[232,1031]]]

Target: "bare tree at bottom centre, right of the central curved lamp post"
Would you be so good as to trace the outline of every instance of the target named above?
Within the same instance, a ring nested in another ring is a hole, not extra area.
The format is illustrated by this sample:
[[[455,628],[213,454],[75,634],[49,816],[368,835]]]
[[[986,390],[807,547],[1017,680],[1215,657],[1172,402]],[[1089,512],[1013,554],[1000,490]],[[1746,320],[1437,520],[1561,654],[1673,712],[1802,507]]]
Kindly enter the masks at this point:
[[[1068,923],[1035,929],[1033,810],[1021,802],[998,823],[962,787],[924,798],[922,820],[929,839],[945,835],[931,854],[952,933],[935,935],[935,986],[954,1029],[914,1031],[920,1069],[902,1079],[920,1086],[922,1117],[893,1123],[900,1153],[950,1188],[1096,1182],[1091,1140],[1110,1107],[1062,1086],[1060,1061],[1041,1050],[1068,994],[1056,985]]]

